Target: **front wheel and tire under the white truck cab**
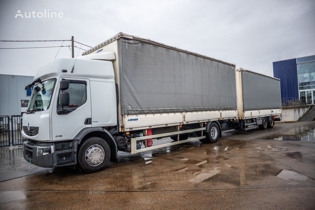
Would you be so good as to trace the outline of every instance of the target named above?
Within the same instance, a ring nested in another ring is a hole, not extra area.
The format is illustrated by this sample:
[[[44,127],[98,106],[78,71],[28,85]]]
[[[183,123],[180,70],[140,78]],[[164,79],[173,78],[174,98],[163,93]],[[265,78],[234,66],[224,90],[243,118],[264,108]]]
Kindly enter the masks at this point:
[[[107,142],[99,137],[89,137],[85,139],[84,142],[80,144],[78,150],[77,164],[87,173],[101,171],[108,164],[111,157],[111,150]],[[90,158],[92,158],[92,160],[90,160]],[[99,163],[97,161],[99,161]]]

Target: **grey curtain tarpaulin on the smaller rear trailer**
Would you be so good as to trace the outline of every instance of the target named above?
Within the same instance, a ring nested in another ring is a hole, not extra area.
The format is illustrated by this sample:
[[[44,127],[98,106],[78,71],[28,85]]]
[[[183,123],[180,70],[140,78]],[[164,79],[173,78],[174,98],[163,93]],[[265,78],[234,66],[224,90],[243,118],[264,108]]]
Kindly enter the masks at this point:
[[[281,109],[280,81],[242,71],[243,110]]]

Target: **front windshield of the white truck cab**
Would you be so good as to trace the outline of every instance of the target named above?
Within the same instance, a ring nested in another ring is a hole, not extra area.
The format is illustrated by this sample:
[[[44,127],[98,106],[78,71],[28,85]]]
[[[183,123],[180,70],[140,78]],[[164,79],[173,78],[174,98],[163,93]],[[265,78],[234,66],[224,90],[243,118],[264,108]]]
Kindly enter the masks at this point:
[[[27,112],[44,111],[49,108],[56,79],[48,79],[34,85]]]

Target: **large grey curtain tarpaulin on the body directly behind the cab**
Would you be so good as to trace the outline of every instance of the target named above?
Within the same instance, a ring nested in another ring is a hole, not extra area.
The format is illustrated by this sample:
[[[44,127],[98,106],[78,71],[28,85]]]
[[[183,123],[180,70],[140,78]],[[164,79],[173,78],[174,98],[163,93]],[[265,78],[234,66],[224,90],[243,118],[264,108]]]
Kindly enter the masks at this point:
[[[235,66],[118,39],[121,113],[236,110]]]

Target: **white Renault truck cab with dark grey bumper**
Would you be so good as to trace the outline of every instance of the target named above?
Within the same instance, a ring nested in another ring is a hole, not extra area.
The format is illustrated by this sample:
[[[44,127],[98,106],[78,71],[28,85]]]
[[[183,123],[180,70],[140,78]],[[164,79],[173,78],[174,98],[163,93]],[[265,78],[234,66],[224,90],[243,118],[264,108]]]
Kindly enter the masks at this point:
[[[109,133],[117,130],[117,95],[111,62],[115,55],[107,52],[98,58],[58,58],[37,71],[33,83],[28,85],[33,89],[20,128],[27,138],[23,144],[26,161],[41,167],[76,165],[78,145],[101,137],[105,140],[103,145],[84,145],[84,157],[89,160],[84,160],[83,164],[88,165],[85,170],[94,172],[109,160],[117,162],[117,146]]]

